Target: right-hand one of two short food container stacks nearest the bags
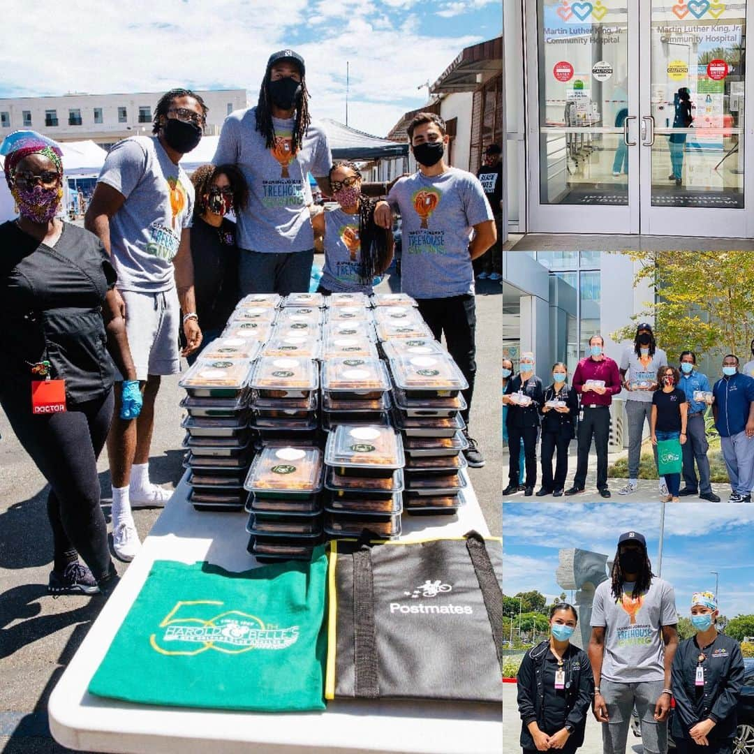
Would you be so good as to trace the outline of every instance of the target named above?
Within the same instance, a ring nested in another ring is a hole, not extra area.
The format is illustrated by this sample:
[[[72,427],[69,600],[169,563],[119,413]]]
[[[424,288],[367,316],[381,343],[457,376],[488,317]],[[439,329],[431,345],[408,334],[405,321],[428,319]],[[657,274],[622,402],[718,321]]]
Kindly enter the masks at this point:
[[[324,532],[329,537],[400,536],[403,443],[381,425],[339,424],[325,447]]]

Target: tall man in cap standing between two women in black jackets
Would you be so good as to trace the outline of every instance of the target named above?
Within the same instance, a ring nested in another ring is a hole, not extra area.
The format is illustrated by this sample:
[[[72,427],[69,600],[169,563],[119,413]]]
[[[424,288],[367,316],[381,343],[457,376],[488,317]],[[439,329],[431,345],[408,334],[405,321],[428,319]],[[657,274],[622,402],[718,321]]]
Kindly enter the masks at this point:
[[[667,752],[670,673],[678,647],[673,587],[652,573],[639,532],[618,538],[611,578],[594,592],[589,661],[602,751],[625,754],[634,707],[647,754]]]

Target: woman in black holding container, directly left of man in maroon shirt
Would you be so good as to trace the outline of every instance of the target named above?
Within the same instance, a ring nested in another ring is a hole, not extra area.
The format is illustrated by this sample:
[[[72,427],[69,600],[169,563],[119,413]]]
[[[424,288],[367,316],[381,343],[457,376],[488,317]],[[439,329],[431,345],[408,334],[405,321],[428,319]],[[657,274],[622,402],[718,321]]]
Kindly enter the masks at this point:
[[[553,495],[559,498],[566,486],[568,474],[568,446],[576,436],[578,394],[568,385],[568,368],[562,361],[553,364],[553,383],[544,391],[542,412],[542,486],[538,497]],[[557,449],[553,480],[553,453]]]

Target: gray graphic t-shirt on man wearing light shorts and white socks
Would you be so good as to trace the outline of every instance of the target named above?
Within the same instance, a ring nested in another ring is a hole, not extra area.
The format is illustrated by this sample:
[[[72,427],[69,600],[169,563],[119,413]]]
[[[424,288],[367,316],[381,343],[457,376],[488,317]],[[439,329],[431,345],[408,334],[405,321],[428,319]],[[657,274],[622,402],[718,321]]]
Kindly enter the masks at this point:
[[[108,152],[97,182],[126,198],[110,219],[118,289],[159,293],[175,287],[173,257],[190,228],[194,186],[157,136],[130,136]]]

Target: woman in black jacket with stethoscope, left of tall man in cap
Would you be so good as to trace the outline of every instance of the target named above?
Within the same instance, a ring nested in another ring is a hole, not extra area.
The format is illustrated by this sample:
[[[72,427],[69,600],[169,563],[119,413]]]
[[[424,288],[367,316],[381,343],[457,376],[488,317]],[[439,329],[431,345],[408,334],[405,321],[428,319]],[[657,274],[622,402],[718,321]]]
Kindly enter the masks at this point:
[[[521,661],[516,681],[523,754],[549,749],[572,754],[584,743],[594,677],[587,653],[569,641],[577,622],[573,605],[553,605],[550,640]]]

